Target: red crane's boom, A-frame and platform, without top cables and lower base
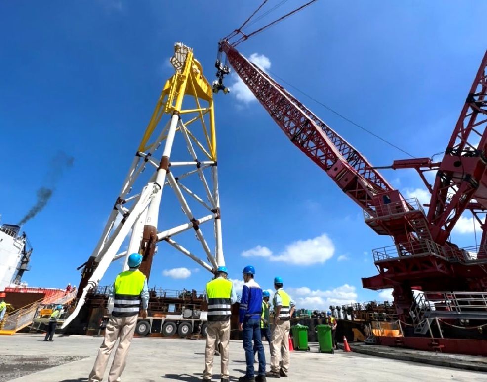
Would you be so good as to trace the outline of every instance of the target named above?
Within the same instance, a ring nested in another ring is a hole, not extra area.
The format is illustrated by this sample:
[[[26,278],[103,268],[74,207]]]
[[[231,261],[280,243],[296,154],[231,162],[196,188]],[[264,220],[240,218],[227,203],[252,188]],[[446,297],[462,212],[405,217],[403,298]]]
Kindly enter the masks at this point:
[[[487,227],[482,224],[481,246],[473,249],[477,258],[470,257],[472,249],[447,241],[466,209],[480,213],[487,207],[487,52],[442,162],[415,158],[393,165],[418,170],[432,193],[426,214],[417,200],[405,200],[359,151],[228,40],[219,48],[291,142],[364,210],[366,224],[379,235],[392,236],[393,246],[373,250],[379,273],[362,279],[365,288],[393,288],[396,309],[405,321],[410,321],[412,289],[487,291]],[[477,145],[475,137],[480,138]],[[438,170],[434,187],[425,170]]]

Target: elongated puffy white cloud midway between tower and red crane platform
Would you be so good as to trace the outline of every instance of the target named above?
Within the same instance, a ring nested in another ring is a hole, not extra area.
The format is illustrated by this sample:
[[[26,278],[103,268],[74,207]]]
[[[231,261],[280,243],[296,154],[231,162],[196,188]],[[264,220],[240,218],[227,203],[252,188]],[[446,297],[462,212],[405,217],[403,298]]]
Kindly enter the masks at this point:
[[[335,246],[325,233],[308,240],[298,240],[286,246],[277,256],[271,256],[271,261],[283,261],[295,265],[312,265],[324,263],[335,252]]]

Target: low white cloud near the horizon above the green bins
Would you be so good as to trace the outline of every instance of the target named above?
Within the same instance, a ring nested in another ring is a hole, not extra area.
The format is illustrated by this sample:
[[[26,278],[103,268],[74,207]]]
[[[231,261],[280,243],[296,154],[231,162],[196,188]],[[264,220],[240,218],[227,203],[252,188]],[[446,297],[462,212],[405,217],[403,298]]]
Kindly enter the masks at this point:
[[[331,290],[311,290],[308,287],[287,288],[286,291],[296,301],[297,308],[328,310],[330,305],[346,305],[357,302],[355,287],[344,284]]]

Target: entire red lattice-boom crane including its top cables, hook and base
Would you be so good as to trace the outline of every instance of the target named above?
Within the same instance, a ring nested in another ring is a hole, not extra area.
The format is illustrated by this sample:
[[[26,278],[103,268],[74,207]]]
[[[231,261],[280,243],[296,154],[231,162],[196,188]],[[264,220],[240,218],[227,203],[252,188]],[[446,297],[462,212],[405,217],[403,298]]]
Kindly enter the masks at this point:
[[[363,209],[365,223],[377,234],[391,236],[393,245],[372,251],[378,274],[363,278],[362,284],[372,290],[393,289],[398,323],[411,336],[401,344],[407,341],[407,346],[416,348],[469,353],[472,343],[448,342],[443,336],[448,331],[440,323],[459,328],[460,334],[451,334],[457,338],[468,337],[469,323],[487,323],[487,52],[441,162],[413,158],[391,166],[417,170],[431,193],[425,212],[416,198],[404,198],[363,154],[236,49],[250,36],[313,2],[255,32],[243,33],[259,7],[223,38],[218,43],[213,91],[228,92],[223,80],[233,68],[289,140]],[[425,177],[427,171],[436,172],[434,184]],[[482,238],[478,246],[459,248],[449,237],[465,211],[471,211],[480,223]],[[413,290],[423,293],[415,295]],[[473,328],[474,338],[487,338],[482,331],[479,334],[479,327]],[[391,344],[391,340],[383,339],[383,343]],[[485,343],[474,347],[487,355]]]

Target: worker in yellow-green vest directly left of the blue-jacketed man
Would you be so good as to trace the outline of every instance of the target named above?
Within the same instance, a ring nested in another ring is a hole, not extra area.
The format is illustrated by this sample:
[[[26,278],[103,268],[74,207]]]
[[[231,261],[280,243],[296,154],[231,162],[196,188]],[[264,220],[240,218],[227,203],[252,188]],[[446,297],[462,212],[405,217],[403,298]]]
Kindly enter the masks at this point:
[[[228,345],[230,341],[230,317],[232,304],[237,302],[237,293],[233,283],[227,280],[226,266],[216,270],[215,277],[206,284],[206,301],[208,302],[208,321],[206,323],[206,349],[204,353],[205,368],[203,381],[213,378],[213,357],[217,341],[220,342],[221,380],[229,382]]]

